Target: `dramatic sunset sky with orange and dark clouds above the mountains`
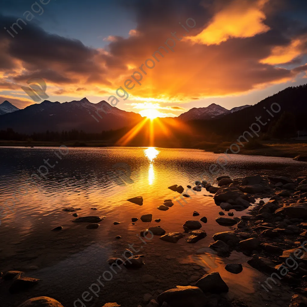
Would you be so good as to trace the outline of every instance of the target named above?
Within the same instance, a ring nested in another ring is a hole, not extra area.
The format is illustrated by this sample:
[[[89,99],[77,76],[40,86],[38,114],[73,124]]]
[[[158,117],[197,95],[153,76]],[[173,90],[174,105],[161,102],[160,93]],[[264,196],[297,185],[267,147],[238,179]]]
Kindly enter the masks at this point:
[[[19,108],[44,100],[33,78],[50,101],[161,117],[307,83],[304,0],[2,0],[0,24],[0,103]]]

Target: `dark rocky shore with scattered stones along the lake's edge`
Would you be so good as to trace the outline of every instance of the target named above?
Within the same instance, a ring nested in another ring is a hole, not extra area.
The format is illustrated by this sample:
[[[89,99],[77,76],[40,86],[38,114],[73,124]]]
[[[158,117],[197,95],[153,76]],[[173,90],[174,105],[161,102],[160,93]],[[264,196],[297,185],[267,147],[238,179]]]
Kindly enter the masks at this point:
[[[212,195],[214,194],[214,201],[221,208],[220,216],[216,217],[216,223],[230,227],[214,234],[215,242],[209,244],[209,247],[221,257],[229,257],[233,251],[249,256],[247,263],[267,275],[267,279],[262,283],[263,291],[272,289],[276,283],[282,283],[296,293],[291,301],[285,302],[285,306],[307,306],[307,177],[290,179],[273,175],[255,175],[245,178],[220,176],[216,182],[217,186],[206,181],[195,181],[196,185],[193,188],[188,186],[198,193],[206,189]],[[180,194],[186,193],[182,186],[173,185],[169,189]],[[129,201],[138,205],[143,203],[141,196]],[[172,206],[172,200],[168,199],[164,200],[163,205],[157,209],[165,211],[165,208],[168,210]],[[232,218],[234,210],[241,212],[247,208],[250,209],[250,215]],[[74,212],[80,208],[67,207],[63,210]],[[78,216],[76,213],[72,215]],[[151,233],[170,244],[176,244],[179,240],[185,240],[190,244],[196,243],[207,236],[206,231],[200,230],[207,223],[207,217],[201,216],[196,211],[192,213],[192,216],[194,219],[183,221],[183,229],[178,232],[166,233],[162,227],[154,226],[141,231],[140,236],[144,238]],[[99,226],[97,223],[105,218],[105,216],[86,216],[77,217],[71,221],[90,223],[86,228],[96,229]],[[137,220],[136,217],[131,219],[133,223]],[[152,215],[143,215],[140,220],[151,222]],[[160,219],[154,221],[159,223]],[[118,223],[120,222],[114,222],[114,225]],[[61,231],[60,227],[52,230]],[[120,236],[116,239],[120,239]],[[110,265],[117,263],[118,266],[125,267],[127,270],[139,270],[144,265],[144,255],[133,255],[131,251],[129,252],[131,257],[126,260],[110,258],[107,262]],[[243,270],[242,263],[228,263],[225,270],[239,276]],[[9,291],[12,294],[28,290],[40,282],[37,278],[23,276],[21,271],[8,271],[1,275],[1,283],[10,284]],[[148,275],[149,277],[152,278],[151,275]],[[184,285],[184,282],[178,281],[181,286],[178,285],[176,288],[166,291],[158,290],[160,291],[158,294],[155,291],[144,294],[144,300],[138,307],[247,306],[244,302],[227,297],[229,287],[218,272],[204,274],[192,285],[190,283]],[[114,300],[116,301],[116,297]],[[103,305],[103,307],[115,306],[120,305],[115,302]],[[19,307],[63,306],[53,298],[42,296],[31,298]]]

